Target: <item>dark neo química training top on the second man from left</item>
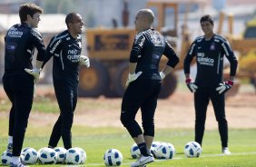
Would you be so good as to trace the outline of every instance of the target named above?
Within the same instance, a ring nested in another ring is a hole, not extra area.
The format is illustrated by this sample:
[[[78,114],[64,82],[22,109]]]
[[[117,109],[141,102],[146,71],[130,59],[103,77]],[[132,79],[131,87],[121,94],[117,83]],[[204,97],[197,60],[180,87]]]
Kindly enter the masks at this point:
[[[67,30],[55,35],[46,48],[44,64],[54,56],[54,80],[78,82],[79,57],[82,52],[82,36],[76,39]]]

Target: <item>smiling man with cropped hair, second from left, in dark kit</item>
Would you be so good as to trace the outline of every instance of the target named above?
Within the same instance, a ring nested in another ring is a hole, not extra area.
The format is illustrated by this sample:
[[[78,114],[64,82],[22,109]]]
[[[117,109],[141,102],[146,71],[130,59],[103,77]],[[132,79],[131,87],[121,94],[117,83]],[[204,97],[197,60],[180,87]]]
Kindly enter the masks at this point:
[[[66,15],[67,30],[55,35],[46,48],[44,64],[53,56],[54,92],[60,108],[60,116],[54,124],[48,146],[57,146],[60,138],[64,148],[72,148],[71,128],[74,110],[77,103],[78,66],[90,66],[89,58],[81,55],[82,30],[84,21],[81,15],[70,13]]]

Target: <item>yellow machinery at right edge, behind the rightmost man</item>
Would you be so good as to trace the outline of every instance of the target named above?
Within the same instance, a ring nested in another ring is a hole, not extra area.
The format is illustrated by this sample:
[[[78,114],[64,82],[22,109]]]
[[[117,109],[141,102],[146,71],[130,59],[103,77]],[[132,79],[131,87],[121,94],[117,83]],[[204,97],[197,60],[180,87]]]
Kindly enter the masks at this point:
[[[224,13],[220,14],[218,34],[222,34],[222,24],[224,21]],[[238,78],[249,78],[251,83],[256,88],[256,17],[247,22],[245,31],[242,36],[233,35],[233,15],[227,15],[228,17],[228,29],[226,34],[233,51],[238,52],[239,68],[237,72]],[[224,77],[229,76],[229,71],[225,71]],[[238,92],[240,83],[237,82],[232,87],[229,95],[233,95]]]

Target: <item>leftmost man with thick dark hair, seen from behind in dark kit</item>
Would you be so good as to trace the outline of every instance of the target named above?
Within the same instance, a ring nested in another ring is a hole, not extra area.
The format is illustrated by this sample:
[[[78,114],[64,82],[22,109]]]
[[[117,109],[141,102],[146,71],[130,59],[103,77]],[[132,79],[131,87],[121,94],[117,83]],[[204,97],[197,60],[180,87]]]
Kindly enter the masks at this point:
[[[13,25],[5,35],[5,74],[3,85],[12,103],[9,114],[9,139],[7,152],[12,153],[11,166],[23,167],[20,162],[25,129],[34,98],[34,83],[39,79],[44,62],[44,42],[35,29],[43,9],[34,4],[20,6],[21,24]],[[33,66],[34,49],[38,51]],[[31,75],[32,74],[32,75]]]

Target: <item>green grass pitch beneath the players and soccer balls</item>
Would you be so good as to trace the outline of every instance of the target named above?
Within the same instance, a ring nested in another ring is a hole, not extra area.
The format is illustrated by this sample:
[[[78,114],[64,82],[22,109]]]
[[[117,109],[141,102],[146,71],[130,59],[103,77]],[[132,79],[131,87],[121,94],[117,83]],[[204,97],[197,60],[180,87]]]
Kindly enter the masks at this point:
[[[4,152],[7,141],[6,120],[0,118],[2,127],[0,151]],[[33,147],[39,150],[47,146],[51,126],[38,128],[29,124],[26,132],[24,148]],[[230,150],[231,155],[223,156],[221,154],[221,143],[218,131],[206,131],[203,139],[203,152],[200,158],[185,158],[183,147],[186,142],[192,141],[192,129],[157,129],[155,141],[171,142],[176,150],[174,159],[159,161],[148,164],[147,166],[172,166],[172,167],[255,167],[256,166],[256,129],[251,130],[230,130]],[[131,158],[130,147],[133,141],[123,128],[91,128],[84,126],[73,127],[73,145],[81,147],[87,153],[87,160],[84,166],[104,166],[103,153],[115,148],[123,153],[122,166],[130,166],[135,161]],[[60,142],[59,146],[63,146]],[[44,166],[44,165],[30,165]],[[45,165],[46,166],[46,165]],[[47,165],[49,166],[49,165]],[[50,165],[60,166],[60,165]]]

